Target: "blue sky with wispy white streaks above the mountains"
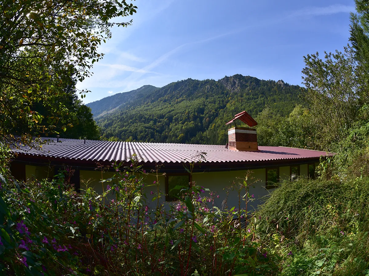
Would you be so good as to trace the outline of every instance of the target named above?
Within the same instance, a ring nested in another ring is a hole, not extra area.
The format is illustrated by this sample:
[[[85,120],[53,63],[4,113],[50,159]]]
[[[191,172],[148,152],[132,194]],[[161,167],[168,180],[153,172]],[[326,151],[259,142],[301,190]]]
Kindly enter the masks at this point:
[[[129,3],[130,0],[127,0]],[[234,74],[301,85],[303,56],[342,51],[354,0],[136,0],[131,26],[114,27],[85,103],[143,85]]]

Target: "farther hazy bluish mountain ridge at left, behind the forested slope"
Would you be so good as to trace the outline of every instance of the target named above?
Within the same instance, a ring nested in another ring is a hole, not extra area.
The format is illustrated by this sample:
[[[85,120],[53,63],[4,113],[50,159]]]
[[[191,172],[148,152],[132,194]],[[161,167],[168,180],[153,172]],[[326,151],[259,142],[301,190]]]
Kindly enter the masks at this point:
[[[131,100],[142,98],[145,94],[150,93],[156,89],[158,88],[155,86],[144,85],[138,89],[129,92],[117,93],[101,100],[87,103],[87,106],[91,108],[93,117],[97,118],[103,116],[104,114],[113,112],[117,107],[120,107]]]

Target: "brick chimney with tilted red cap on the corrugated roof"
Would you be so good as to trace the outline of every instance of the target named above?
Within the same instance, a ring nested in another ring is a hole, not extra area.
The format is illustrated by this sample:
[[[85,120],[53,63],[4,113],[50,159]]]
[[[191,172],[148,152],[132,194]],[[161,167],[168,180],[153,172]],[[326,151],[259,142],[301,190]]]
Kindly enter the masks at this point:
[[[226,125],[241,120],[250,127],[254,127],[258,123],[246,112],[238,113]],[[228,130],[228,149],[232,151],[258,151],[258,139],[255,128],[248,127],[232,127]]]

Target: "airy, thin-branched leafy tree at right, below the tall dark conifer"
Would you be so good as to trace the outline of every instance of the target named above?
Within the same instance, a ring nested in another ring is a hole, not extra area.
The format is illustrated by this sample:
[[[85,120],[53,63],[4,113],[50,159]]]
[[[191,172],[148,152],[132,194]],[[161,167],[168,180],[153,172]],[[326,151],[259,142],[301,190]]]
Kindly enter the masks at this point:
[[[318,142],[329,150],[353,127],[359,108],[367,102],[368,82],[365,67],[357,62],[352,47],[345,47],[343,53],[324,53],[324,60],[318,53],[304,56],[302,78]]]

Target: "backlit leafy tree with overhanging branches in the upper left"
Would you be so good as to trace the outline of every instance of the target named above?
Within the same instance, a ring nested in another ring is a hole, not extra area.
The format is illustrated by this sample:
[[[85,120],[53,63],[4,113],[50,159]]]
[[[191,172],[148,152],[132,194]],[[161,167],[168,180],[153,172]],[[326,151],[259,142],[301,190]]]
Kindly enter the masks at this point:
[[[1,0],[0,142],[17,134],[27,143],[35,130],[66,129],[66,115],[73,114],[57,99],[69,93],[75,76],[82,81],[92,74],[111,27],[131,24],[111,20],[136,8],[125,0]],[[34,110],[41,102],[48,117]]]

